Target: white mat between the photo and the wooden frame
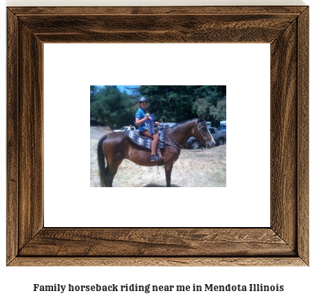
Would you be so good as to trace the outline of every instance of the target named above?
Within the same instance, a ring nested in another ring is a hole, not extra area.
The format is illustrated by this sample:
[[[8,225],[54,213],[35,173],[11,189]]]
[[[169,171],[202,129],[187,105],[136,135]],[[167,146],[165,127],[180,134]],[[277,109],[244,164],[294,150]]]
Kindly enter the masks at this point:
[[[44,53],[45,226],[270,226],[270,44],[45,44]],[[151,198],[91,188],[87,99],[102,84],[227,85],[227,187],[151,189]]]

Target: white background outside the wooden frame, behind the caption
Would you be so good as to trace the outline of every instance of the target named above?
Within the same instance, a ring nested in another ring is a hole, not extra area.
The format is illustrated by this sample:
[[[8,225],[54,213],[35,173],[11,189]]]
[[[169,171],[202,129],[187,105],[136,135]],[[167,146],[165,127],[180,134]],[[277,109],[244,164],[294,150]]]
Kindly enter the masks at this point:
[[[3,1],[4,2],[4,1]],[[80,1],[80,0],[64,0],[64,1],[7,1],[9,6],[25,5],[30,3],[35,5],[94,5],[98,1]],[[100,4],[101,1],[99,1]],[[119,4],[120,1],[116,1]],[[175,1],[177,3],[177,1]],[[241,5],[241,3],[250,1],[230,1],[230,4]],[[294,1],[274,1],[278,3],[294,3]],[[103,5],[107,5],[108,1],[102,1]],[[127,2],[126,2],[127,3]],[[157,1],[151,1],[156,3]],[[161,2],[160,2],[161,3]],[[169,3],[173,4],[170,1]],[[202,1],[195,1],[195,4],[201,4]],[[208,1],[208,3],[217,3],[217,1]],[[255,3],[263,4],[270,3],[268,1],[255,1]],[[296,1],[298,3],[298,1]],[[316,296],[316,158],[314,153],[316,149],[316,134],[314,129],[317,126],[316,119],[316,16],[317,5],[316,1],[307,0],[305,3],[310,6],[310,266],[307,268],[298,267],[6,267],[6,74],[1,72],[1,102],[0,102],[0,126],[1,126],[1,198],[0,198],[0,220],[1,220],[1,248],[0,248],[0,297],[1,299],[175,299],[179,295],[174,293],[168,294],[144,294],[144,293],[127,293],[127,294],[61,294],[58,292],[32,292],[32,284],[40,283],[44,285],[59,283],[59,284],[182,284],[193,285],[193,283],[204,285],[204,283],[214,284],[249,284],[249,283],[276,283],[283,285],[284,292],[205,292],[196,294],[188,292],[182,294],[182,299],[314,299]],[[144,4],[144,2],[143,2]],[[182,1],[183,5],[190,4],[189,1]],[[193,3],[191,3],[193,4]],[[206,4],[206,1],[204,1]],[[6,69],[6,27],[5,27],[5,8],[4,3],[1,3],[1,70]],[[116,83],[117,84],[117,83]],[[125,83],[124,83],[125,84]],[[133,83],[129,83],[133,84]]]

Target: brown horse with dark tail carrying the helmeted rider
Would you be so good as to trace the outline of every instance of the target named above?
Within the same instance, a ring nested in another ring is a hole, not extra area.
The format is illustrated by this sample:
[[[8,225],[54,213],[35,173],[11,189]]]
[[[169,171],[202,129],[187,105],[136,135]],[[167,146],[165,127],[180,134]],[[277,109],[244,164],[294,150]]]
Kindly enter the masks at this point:
[[[179,158],[180,151],[190,136],[197,138],[206,147],[215,146],[215,140],[207,128],[206,121],[201,117],[166,129],[166,147],[162,151],[162,157],[168,187],[171,186],[173,164]],[[140,166],[154,167],[157,162],[151,162],[150,156],[150,150],[131,142],[124,132],[103,136],[98,143],[100,186],[112,187],[113,178],[124,159],[131,160]],[[105,167],[105,160],[107,160],[107,167]]]

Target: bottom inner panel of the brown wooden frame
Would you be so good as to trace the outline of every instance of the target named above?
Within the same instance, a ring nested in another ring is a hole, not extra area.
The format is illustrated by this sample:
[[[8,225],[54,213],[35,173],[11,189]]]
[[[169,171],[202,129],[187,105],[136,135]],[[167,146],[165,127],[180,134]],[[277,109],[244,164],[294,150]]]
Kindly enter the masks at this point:
[[[44,228],[21,256],[295,256],[271,229]]]

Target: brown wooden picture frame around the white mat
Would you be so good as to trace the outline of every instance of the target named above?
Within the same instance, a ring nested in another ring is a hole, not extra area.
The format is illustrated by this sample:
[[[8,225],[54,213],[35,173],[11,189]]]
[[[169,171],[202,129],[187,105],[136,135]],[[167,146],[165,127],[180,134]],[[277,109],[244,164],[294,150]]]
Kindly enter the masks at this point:
[[[8,266],[309,265],[307,6],[7,14]],[[270,228],[45,228],[43,43],[270,43]]]

